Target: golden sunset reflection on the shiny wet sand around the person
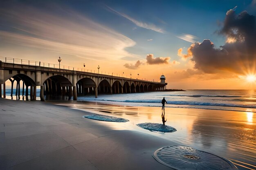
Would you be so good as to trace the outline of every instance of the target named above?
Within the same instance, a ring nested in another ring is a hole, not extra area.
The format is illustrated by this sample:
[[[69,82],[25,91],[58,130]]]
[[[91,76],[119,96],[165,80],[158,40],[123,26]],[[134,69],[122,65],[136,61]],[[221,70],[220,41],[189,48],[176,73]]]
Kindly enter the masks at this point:
[[[63,104],[61,104],[63,105]],[[129,119],[126,124],[107,123],[116,130],[139,130],[186,146],[217,154],[233,162],[251,167],[256,154],[256,117],[252,112],[165,108],[166,125],[177,129],[173,133],[152,133],[136,124],[162,123],[159,107],[115,106],[105,104],[64,104],[90,110],[93,113]],[[239,160],[239,161],[238,161]]]

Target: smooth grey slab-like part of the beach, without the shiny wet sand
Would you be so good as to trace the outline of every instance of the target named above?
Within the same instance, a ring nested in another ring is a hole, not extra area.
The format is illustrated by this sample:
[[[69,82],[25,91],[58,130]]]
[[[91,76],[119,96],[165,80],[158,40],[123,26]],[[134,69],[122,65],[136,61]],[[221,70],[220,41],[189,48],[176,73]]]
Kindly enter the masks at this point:
[[[169,169],[153,159],[158,148],[177,145],[85,119],[81,110],[47,102],[0,99],[1,170]],[[114,123],[114,122],[112,122]]]

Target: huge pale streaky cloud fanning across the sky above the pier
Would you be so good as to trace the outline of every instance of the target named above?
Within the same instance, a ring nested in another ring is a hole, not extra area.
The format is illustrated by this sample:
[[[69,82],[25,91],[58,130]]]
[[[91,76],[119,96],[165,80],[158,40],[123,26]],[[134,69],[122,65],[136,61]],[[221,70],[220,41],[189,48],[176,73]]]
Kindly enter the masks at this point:
[[[25,46],[106,61],[134,56],[125,50],[136,44],[133,40],[70,9],[59,9],[56,14],[13,4],[1,9],[0,15],[0,23],[8,23],[8,28],[0,28],[1,42],[11,44],[13,50]]]

